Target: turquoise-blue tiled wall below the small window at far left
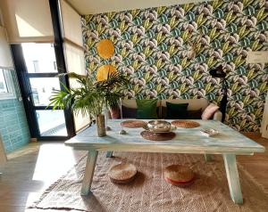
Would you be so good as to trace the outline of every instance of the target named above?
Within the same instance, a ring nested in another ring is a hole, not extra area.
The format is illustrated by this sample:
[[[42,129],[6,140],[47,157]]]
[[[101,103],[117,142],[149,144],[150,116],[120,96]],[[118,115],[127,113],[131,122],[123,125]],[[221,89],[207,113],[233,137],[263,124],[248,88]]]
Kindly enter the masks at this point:
[[[23,103],[18,98],[0,100],[0,133],[6,152],[29,143],[29,127]]]

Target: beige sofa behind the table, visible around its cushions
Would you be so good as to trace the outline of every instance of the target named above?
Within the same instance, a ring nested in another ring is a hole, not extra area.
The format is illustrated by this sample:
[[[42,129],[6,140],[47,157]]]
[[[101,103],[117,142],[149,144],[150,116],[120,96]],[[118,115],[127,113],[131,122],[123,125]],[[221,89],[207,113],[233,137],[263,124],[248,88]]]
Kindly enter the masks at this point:
[[[167,100],[158,100],[157,107],[159,107],[159,112],[162,113],[162,108],[166,107],[166,102],[172,102],[172,103],[188,103],[188,110],[199,110],[201,109],[202,112],[205,110],[205,108],[209,105],[209,102],[206,99],[167,99]],[[122,106],[125,106],[127,108],[131,109],[137,109],[137,103],[136,100],[122,100],[121,101]],[[220,110],[216,111],[214,113],[214,120],[222,120],[222,112]]]

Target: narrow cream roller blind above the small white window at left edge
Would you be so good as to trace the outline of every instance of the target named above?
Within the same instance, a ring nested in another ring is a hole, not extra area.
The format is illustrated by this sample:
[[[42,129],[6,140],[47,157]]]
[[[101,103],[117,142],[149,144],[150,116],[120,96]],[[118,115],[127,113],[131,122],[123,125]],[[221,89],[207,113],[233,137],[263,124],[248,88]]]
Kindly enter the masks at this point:
[[[0,27],[0,68],[13,69],[13,58],[3,27]]]

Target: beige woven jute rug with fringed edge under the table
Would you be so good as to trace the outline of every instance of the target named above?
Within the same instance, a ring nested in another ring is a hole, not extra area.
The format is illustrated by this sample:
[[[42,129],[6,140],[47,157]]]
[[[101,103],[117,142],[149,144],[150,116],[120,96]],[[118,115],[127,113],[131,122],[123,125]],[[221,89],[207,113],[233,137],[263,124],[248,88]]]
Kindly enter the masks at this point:
[[[46,209],[44,211],[65,209],[90,212],[267,211],[267,193],[241,166],[239,175],[244,204],[236,205],[230,200],[225,169],[220,157],[213,162],[205,162],[203,155],[194,154],[114,152],[114,156],[106,159],[105,152],[99,153],[92,193],[89,196],[80,196],[86,162],[84,156],[30,208]],[[111,183],[107,175],[109,168],[121,161],[132,163],[138,168],[136,179],[129,184]],[[172,164],[191,167],[197,175],[195,182],[188,188],[166,183],[163,179],[163,169]]]

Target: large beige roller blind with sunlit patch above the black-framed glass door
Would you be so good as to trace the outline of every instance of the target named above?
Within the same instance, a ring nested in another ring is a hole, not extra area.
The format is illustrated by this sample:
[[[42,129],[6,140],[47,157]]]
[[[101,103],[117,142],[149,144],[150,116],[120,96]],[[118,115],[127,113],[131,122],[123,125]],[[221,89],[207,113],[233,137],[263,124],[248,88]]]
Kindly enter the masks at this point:
[[[54,42],[48,0],[1,0],[10,43]]]

